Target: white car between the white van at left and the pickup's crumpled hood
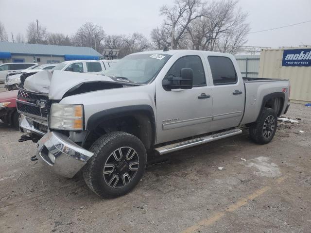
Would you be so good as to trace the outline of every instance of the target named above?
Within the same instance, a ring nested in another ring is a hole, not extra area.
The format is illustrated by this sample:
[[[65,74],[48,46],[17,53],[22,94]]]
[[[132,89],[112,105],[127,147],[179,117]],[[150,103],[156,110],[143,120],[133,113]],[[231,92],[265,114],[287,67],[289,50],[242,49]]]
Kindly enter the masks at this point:
[[[40,72],[42,70],[45,69],[52,69],[56,66],[57,64],[44,64],[44,65],[35,65],[32,67],[29,67],[27,69],[24,69],[20,72],[14,73],[14,74],[7,74],[6,78],[5,78],[5,84],[4,87],[8,90],[8,91],[12,91],[12,90],[17,90],[19,84],[20,84],[20,76],[22,74],[35,74],[37,72]]]

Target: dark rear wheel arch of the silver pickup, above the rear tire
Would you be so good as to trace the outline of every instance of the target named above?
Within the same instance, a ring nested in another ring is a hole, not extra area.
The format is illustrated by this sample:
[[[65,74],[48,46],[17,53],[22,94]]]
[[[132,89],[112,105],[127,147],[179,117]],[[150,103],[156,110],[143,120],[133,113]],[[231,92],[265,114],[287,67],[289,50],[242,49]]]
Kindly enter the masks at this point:
[[[276,106],[276,101],[275,101],[276,98],[280,100],[280,103],[278,104],[279,107]],[[262,99],[260,111],[259,111],[256,121],[259,121],[263,113],[263,109],[266,107],[274,109],[276,111],[276,116],[280,116],[284,108],[284,101],[285,101],[285,94],[283,92],[274,92],[274,93],[265,95]]]

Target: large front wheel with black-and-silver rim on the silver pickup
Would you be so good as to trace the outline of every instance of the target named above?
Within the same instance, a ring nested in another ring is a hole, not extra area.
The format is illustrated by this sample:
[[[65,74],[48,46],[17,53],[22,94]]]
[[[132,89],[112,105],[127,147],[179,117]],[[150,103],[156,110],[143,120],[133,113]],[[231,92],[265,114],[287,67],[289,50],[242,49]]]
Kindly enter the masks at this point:
[[[84,166],[83,177],[100,197],[114,198],[130,192],[145,171],[146,149],[132,134],[107,133],[94,142],[90,151],[94,155]]]

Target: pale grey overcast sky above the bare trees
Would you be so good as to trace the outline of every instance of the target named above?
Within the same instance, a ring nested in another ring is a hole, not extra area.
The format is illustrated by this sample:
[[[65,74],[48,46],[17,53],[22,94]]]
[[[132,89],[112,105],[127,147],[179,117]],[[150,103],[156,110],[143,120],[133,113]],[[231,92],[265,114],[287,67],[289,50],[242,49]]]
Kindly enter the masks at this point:
[[[26,34],[38,19],[49,32],[72,35],[86,21],[103,26],[107,34],[150,31],[160,25],[159,8],[173,0],[1,0],[0,21],[11,39]],[[240,0],[248,12],[251,32],[311,20],[311,0]],[[269,32],[251,33],[246,45],[277,48],[311,45],[311,22]]]

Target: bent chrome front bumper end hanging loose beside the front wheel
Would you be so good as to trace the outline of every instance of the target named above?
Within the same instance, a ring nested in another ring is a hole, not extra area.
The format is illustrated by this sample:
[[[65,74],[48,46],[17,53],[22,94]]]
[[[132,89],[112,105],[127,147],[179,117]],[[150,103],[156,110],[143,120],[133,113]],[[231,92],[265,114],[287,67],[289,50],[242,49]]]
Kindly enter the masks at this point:
[[[62,133],[49,132],[38,141],[38,160],[56,174],[72,178],[93,153],[72,142]]]

